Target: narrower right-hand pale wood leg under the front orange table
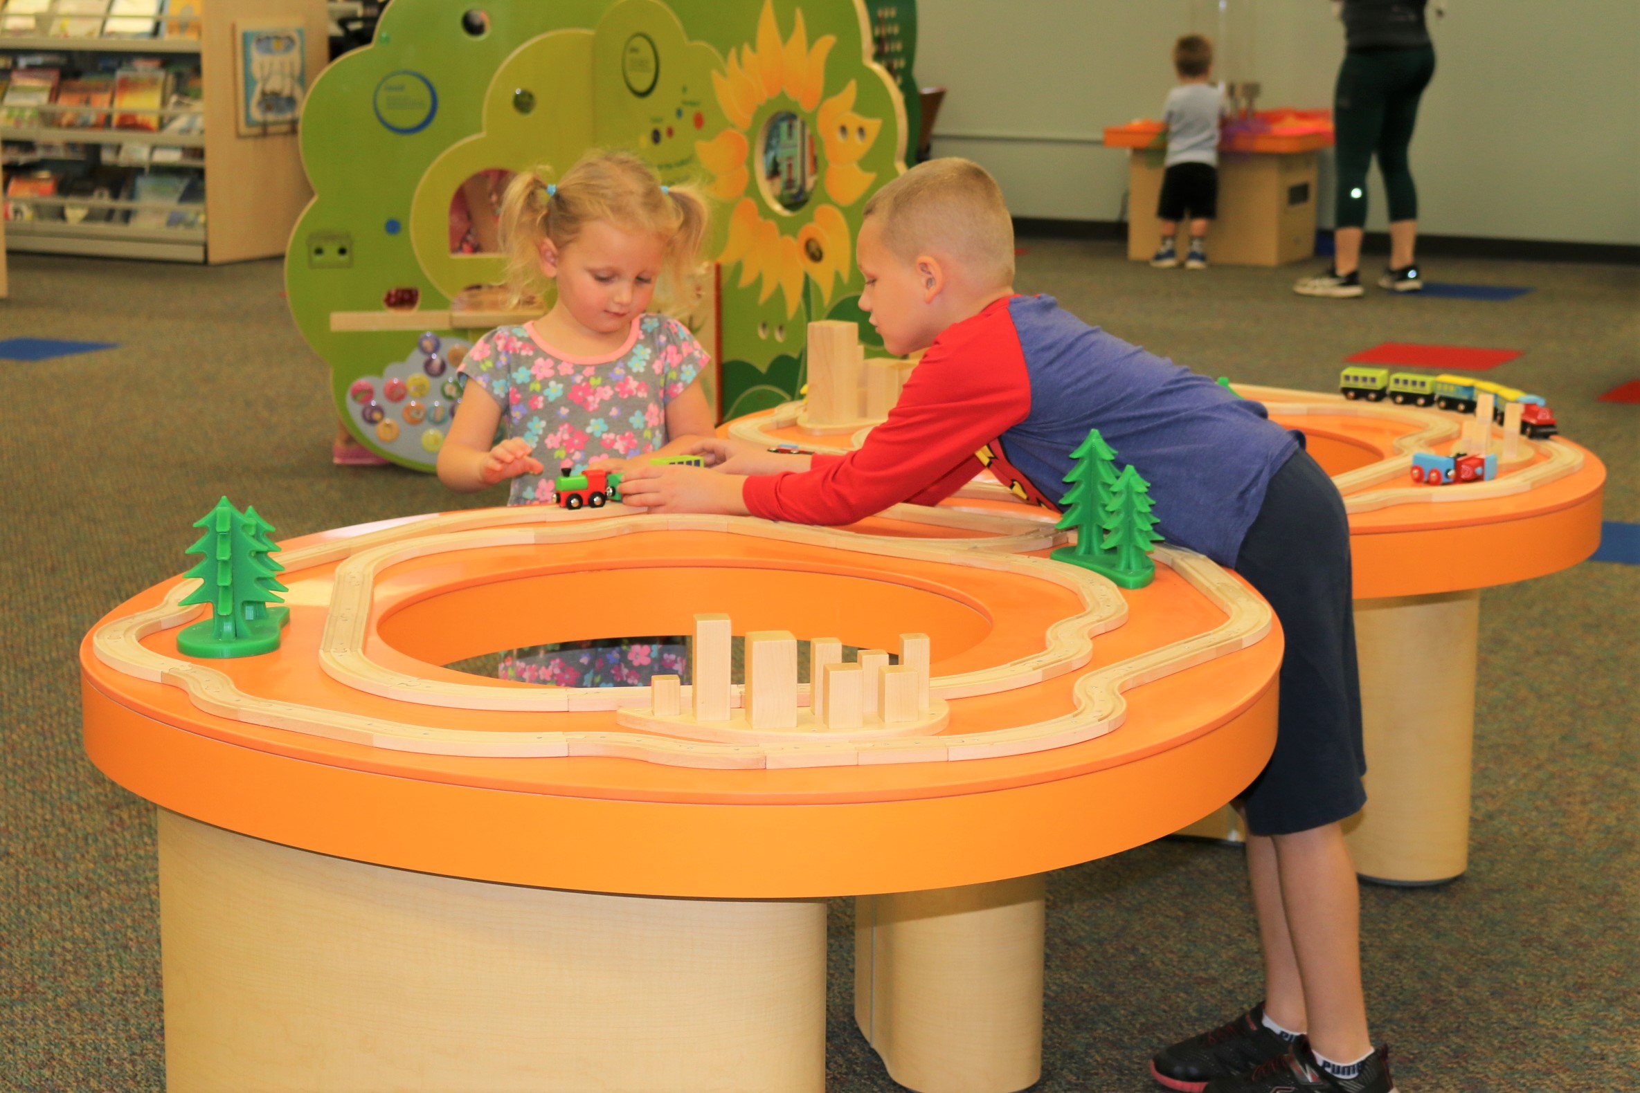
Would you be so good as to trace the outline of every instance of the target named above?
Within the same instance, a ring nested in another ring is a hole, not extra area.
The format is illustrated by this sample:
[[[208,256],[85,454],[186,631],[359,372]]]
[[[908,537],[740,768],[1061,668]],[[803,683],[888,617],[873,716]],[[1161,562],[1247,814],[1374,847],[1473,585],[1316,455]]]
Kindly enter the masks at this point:
[[[854,1021],[918,1093],[1041,1077],[1045,878],[854,900]]]

